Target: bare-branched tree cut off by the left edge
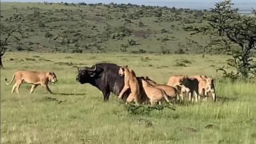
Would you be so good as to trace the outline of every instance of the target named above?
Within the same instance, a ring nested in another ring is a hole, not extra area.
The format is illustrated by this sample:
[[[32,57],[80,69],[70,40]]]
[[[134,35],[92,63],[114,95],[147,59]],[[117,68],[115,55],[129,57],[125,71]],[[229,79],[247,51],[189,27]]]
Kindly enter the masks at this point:
[[[13,35],[15,32],[21,33],[19,26],[4,26],[3,24],[1,24],[0,68],[3,68],[2,56],[5,54],[8,40],[10,40],[11,37],[15,38],[15,40],[19,40],[17,36]]]

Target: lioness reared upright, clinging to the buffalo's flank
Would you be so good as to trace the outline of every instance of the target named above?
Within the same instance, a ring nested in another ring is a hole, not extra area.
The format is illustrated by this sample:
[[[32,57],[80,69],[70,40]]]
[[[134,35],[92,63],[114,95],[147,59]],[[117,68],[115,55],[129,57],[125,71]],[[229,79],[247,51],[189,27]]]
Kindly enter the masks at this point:
[[[140,90],[138,81],[135,77],[135,72],[133,70],[132,72],[130,72],[130,70],[127,67],[120,67],[118,74],[120,74],[120,76],[124,76],[124,88],[118,95],[118,98],[122,98],[122,95],[130,88],[131,93],[127,97],[126,102],[132,102],[134,100],[136,104],[139,104],[138,97]]]

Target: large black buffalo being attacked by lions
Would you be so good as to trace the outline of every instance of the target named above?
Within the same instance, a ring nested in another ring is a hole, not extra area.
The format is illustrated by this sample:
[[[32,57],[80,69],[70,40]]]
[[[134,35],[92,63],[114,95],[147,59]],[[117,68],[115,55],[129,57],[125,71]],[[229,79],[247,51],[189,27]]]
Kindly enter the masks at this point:
[[[76,81],[81,84],[92,84],[102,92],[104,100],[108,100],[111,92],[119,95],[122,88],[124,88],[124,76],[118,74],[119,68],[120,66],[114,63],[97,63],[92,67],[79,67],[77,68]],[[145,92],[142,88],[141,77],[137,77],[137,79],[140,84],[141,95],[143,95],[140,99],[140,102],[142,102],[147,98],[145,98]],[[130,92],[130,90],[127,90],[123,99],[126,99]]]

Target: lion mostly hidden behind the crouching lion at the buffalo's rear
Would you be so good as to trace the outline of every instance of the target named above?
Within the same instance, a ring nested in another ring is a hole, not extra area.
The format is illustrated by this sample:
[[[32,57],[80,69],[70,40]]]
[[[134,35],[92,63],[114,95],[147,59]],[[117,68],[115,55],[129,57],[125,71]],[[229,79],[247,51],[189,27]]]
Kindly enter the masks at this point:
[[[157,84],[156,82],[152,81],[152,79],[150,79],[149,77],[145,77],[145,80],[149,84],[154,86],[155,88],[161,88],[162,90],[164,90],[164,92],[166,93],[166,95],[168,97],[172,97],[172,98],[176,97],[179,100],[179,92],[173,86],[168,86],[168,85],[165,85],[165,84]]]

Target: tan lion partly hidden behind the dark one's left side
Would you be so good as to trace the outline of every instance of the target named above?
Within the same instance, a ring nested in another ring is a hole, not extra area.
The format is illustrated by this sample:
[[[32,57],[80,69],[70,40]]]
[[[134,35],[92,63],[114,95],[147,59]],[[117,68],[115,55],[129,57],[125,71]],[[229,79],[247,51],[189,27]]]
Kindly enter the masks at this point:
[[[184,75],[172,76],[169,78],[168,83],[167,83],[168,86],[172,86],[173,88],[176,88],[178,90],[178,92],[180,93],[181,100],[183,100],[183,91],[181,90],[180,79],[183,79],[186,77],[188,77],[188,76],[186,76],[186,75],[185,76]]]

